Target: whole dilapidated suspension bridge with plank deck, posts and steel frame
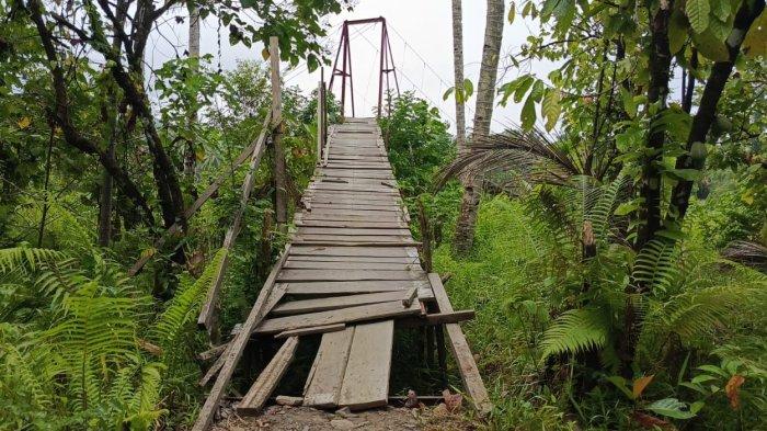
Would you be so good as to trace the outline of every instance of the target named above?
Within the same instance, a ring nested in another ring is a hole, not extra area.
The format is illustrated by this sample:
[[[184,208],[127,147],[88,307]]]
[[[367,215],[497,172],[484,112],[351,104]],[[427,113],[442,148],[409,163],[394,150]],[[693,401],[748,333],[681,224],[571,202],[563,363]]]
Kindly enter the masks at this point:
[[[337,77],[342,112],[348,86],[354,113],[348,31],[351,26],[369,23],[381,27],[379,115],[392,82],[399,91],[386,20],[344,22],[329,88],[332,91]],[[250,158],[240,211],[225,238],[225,250],[231,249],[243,223],[254,172],[270,137],[279,151],[283,124],[276,38],[271,43],[271,57],[273,105],[264,120],[263,132],[236,161],[240,165]],[[419,251],[428,245],[416,242],[411,236],[410,215],[376,118],[353,114],[342,124],[329,125],[327,91],[321,81],[318,163],[302,195],[302,208],[295,214],[290,240],[261,287],[247,320],[238,326],[231,340],[203,353],[215,362],[201,384],[214,384],[193,430],[203,431],[211,426],[221,402],[230,399],[230,382],[243,366],[243,353],[264,345],[278,348],[262,350],[262,354],[271,358],[264,361],[249,390],[238,397],[239,415],[257,415],[277,395],[298,396],[304,406],[324,409],[386,406],[391,396],[391,374],[397,372],[392,370],[392,345],[402,328],[428,329],[431,337],[425,338],[426,345],[412,345],[412,349],[425,348],[432,354],[436,350],[443,372],[449,345],[465,393],[481,415],[491,409],[474,358],[458,325],[472,318],[473,311],[454,310],[439,275],[422,266]],[[276,166],[275,175],[279,174]],[[201,195],[191,207],[192,213],[213,194],[219,180]],[[275,182],[279,188],[279,179]],[[279,213],[277,208],[278,223]],[[144,263],[137,262],[134,270],[138,271]],[[199,326],[208,330],[216,325],[226,268],[225,257],[198,319]],[[301,393],[275,394],[286,373],[300,367],[295,360],[302,343],[316,345],[316,352]],[[422,365],[426,364],[414,366]]]

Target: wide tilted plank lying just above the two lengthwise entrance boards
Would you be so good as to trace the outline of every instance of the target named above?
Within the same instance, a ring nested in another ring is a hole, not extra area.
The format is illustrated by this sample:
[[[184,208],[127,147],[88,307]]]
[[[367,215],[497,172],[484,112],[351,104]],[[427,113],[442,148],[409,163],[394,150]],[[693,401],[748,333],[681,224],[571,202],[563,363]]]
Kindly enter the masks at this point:
[[[307,328],[312,326],[325,326],[333,324],[352,324],[365,320],[387,319],[399,316],[412,316],[421,313],[420,307],[413,303],[409,308],[402,307],[400,300],[390,303],[360,305],[329,311],[309,313],[305,315],[275,317],[264,320],[255,329],[254,333],[275,333],[290,329]]]

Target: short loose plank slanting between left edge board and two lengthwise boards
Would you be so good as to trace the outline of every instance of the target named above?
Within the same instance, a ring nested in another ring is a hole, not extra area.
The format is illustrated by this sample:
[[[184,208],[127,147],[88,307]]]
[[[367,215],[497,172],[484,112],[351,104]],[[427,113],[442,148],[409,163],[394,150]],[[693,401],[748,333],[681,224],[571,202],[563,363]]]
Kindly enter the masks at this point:
[[[277,351],[266,368],[255,379],[248,394],[242,398],[237,407],[240,415],[257,413],[266,404],[270,395],[277,388],[279,381],[285,375],[288,365],[293,362],[298,347],[298,337],[290,337]]]

